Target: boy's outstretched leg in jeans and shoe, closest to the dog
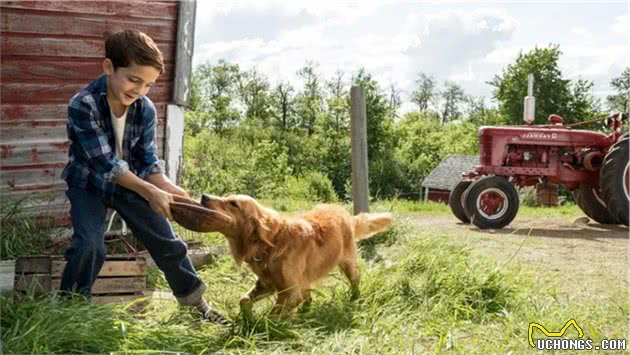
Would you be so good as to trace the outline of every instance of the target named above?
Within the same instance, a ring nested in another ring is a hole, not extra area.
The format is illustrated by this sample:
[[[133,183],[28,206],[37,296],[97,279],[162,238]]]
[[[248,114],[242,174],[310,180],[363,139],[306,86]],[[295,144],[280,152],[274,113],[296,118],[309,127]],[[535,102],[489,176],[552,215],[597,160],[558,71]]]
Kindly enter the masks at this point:
[[[140,195],[120,186],[114,194],[113,207],[164,272],[179,303],[196,306],[206,318],[222,323],[223,317],[212,311],[204,301],[202,296],[206,285],[197,276],[187,255],[186,244],[175,236],[166,218],[153,211]]]

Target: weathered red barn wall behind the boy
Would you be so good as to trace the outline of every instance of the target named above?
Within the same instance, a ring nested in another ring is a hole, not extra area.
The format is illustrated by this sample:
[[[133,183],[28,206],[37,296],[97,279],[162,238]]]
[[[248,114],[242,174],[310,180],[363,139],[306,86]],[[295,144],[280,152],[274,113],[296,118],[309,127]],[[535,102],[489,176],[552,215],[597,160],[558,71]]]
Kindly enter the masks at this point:
[[[175,1],[0,2],[0,194],[27,198],[31,212],[67,218],[67,103],[101,73],[109,32],[138,29],[162,50],[166,72],[149,97],[164,157],[177,35]]]

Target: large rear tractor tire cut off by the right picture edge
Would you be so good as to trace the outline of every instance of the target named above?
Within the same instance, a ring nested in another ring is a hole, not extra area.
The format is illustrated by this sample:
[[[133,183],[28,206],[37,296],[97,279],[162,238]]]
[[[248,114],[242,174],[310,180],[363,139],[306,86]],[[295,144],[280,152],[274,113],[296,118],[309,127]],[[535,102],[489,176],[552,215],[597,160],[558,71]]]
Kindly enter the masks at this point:
[[[630,205],[630,159],[628,158],[628,134],[624,134],[604,157],[599,171],[599,185],[608,210],[617,221],[628,225]]]

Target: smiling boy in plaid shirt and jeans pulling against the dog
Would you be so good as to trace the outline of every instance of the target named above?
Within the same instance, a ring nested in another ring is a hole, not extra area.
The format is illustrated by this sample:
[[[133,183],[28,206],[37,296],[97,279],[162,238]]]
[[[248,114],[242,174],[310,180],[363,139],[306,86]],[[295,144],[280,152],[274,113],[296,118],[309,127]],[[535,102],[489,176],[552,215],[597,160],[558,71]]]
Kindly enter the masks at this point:
[[[121,31],[105,42],[104,74],[76,93],[68,106],[68,185],[74,234],[62,291],[90,297],[106,255],[107,208],[116,210],[164,272],[180,304],[203,318],[226,320],[203,299],[205,284],[167,221],[171,194],[187,196],[164,175],[155,143],[156,110],[145,95],[164,71],[160,50],[138,31]]]

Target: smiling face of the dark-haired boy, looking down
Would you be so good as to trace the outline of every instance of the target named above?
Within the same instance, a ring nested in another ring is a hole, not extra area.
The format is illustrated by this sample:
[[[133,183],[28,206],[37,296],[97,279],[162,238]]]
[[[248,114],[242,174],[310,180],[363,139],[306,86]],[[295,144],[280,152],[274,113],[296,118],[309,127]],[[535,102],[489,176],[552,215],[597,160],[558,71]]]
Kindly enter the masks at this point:
[[[110,105],[127,107],[140,96],[149,92],[160,76],[160,71],[150,65],[138,65],[133,62],[128,67],[114,66],[109,59],[103,62],[107,75],[107,99]]]

